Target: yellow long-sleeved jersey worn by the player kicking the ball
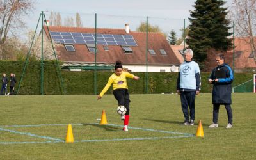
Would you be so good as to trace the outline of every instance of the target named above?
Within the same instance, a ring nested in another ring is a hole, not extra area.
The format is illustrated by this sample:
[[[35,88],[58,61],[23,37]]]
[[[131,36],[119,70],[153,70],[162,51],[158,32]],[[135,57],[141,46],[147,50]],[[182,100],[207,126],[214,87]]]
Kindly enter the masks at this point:
[[[103,88],[102,92],[100,92],[100,96],[102,97],[107,92],[107,90],[109,89],[112,83],[113,83],[113,90],[116,90],[119,88],[128,89],[126,77],[133,78],[134,75],[124,71],[122,72],[122,74],[120,74],[120,76],[117,76],[115,73],[113,73],[109,77],[108,83]]]

